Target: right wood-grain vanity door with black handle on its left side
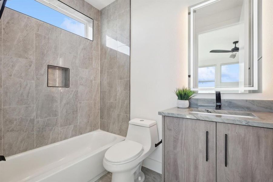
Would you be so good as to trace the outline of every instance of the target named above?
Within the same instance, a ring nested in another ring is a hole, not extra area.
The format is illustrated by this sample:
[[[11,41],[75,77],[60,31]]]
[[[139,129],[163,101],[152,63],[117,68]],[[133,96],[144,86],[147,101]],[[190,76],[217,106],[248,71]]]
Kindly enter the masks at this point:
[[[273,129],[227,123],[216,128],[218,182],[273,182]]]

